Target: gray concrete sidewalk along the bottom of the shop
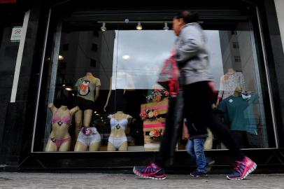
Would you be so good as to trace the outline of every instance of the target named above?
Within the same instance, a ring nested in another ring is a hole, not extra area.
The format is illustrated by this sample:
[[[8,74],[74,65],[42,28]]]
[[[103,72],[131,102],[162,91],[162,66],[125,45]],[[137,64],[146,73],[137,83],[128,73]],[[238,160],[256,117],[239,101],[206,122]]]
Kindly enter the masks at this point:
[[[134,174],[55,174],[0,172],[0,188],[284,188],[284,174],[250,175],[243,181],[229,181],[225,175],[192,178],[190,175],[167,175],[165,180],[139,179]]]

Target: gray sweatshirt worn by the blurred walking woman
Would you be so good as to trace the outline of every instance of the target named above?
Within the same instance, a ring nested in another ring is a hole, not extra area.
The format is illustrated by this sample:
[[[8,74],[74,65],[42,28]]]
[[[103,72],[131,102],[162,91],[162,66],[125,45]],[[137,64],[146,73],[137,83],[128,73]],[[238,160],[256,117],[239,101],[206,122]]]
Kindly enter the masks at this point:
[[[209,69],[206,38],[197,22],[188,23],[176,40],[176,61],[183,76],[183,84],[213,80]]]

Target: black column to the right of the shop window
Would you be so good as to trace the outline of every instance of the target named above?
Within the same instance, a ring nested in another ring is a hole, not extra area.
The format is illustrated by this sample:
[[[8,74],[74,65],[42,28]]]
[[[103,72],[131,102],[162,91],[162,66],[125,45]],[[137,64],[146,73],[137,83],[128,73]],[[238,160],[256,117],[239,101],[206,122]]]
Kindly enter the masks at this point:
[[[274,0],[262,0],[260,18],[264,31],[267,64],[274,97],[274,111],[280,147],[284,147],[284,55]]]

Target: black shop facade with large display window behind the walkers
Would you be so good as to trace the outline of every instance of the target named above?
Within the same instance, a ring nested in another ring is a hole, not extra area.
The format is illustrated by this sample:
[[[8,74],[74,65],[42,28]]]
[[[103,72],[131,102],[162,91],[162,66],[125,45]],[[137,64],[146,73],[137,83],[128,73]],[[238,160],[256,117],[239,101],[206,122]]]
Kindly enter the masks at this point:
[[[204,28],[216,115],[261,170],[281,170],[281,6],[253,0],[145,1],[139,7],[1,1],[0,165],[129,169],[155,158],[168,97],[156,80],[176,40],[172,18],[187,9],[199,12]],[[209,136],[206,155],[215,167],[229,167],[227,148]],[[194,165],[185,144],[180,137],[172,169]]]

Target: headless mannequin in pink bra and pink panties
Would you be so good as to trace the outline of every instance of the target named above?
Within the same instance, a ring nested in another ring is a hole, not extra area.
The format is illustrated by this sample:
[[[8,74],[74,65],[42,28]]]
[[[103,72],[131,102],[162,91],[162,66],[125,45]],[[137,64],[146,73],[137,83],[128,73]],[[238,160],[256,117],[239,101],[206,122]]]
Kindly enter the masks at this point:
[[[79,110],[79,107],[76,106],[69,110],[67,106],[60,106],[57,109],[53,104],[48,104],[48,108],[52,111],[52,132],[45,151],[69,151],[71,144],[69,126],[73,114]]]

